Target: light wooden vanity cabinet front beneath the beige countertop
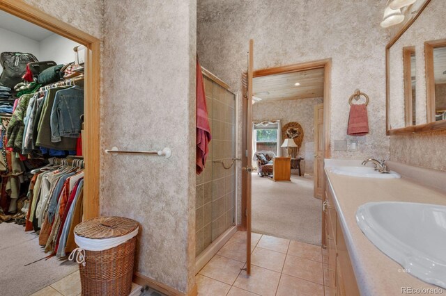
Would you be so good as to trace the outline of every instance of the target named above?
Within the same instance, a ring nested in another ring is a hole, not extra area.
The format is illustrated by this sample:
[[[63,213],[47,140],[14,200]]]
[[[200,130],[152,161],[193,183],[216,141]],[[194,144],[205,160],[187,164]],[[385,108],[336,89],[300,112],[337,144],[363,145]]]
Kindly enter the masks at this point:
[[[325,186],[326,203],[323,215],[325,216],[325,247],[328,249],[328,283],[325,283],[325,286],[330,287],[330,295],[360,295],[327,180],[325,180]]]

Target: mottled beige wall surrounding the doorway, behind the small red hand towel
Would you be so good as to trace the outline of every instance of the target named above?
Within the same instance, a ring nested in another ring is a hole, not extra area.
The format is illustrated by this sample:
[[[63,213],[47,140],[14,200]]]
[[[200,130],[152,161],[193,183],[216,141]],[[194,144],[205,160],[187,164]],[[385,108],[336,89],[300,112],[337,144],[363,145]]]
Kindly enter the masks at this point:
[[[332,58],[331,147],[334,140],[352,138],[359,144],[358,151],[332,151],[332,158],[387,159],[388,38],[387,31],[379,25],[384,6],[385,1],[376,0],[198,0],[197,51],[201,65],[238,94],[239,110],[240,75],[247,69],[250,38],[254,39],[254,69]],[[356,88],[370,97],[370,133],[364,137],[346,135],[348,98]],[[240,112],[239,124],[241,116]],[[241,133],[238,137],[241,143]],[[241,147],[238,152],[242,155]],[[238,188],[241,196],[240,179]]]

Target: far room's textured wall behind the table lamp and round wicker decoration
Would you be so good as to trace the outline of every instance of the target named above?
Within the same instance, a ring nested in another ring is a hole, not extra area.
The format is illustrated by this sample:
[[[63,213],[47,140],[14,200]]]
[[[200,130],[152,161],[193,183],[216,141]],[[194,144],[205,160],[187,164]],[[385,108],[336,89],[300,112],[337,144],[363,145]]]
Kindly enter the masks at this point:
[[[289,122],[298,122],[304,130],[304,139],[298,156],[305,158],[305,144],[314,142],[314,106],[321,104],[322,101],[323,98],[314,98],[256,103],[252,106],[252,120],[256,122],[281,120],[282,126]],[[286,156],[284,148],[282,148],[282,155]],[[304,166],[302,162],[302,167]]]

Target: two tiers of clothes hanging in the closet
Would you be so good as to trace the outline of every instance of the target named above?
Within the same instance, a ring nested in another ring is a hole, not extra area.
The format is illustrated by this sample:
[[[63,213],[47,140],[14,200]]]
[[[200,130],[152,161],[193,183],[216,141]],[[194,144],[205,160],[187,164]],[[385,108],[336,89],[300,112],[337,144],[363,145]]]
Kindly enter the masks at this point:
[[[83,160],[66,158],[82,151],[83,74],[64,81],[45,75],[40,83],[58,82],[20,82],[15,91],[0,85],[0,220],[36,231],[45,252],[63,257],[77,247],[73,231],[83,215]]]

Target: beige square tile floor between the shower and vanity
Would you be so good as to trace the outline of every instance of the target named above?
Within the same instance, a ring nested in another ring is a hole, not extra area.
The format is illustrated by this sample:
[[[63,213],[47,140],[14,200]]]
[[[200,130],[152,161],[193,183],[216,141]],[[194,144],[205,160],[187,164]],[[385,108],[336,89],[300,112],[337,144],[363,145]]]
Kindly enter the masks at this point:
[[[329,296],[325,250],[252,233],[251,276],[245,268],[246,232],[238,231],[197,274],[198,295]],[[325,283],[325,285],[324,285]]]

